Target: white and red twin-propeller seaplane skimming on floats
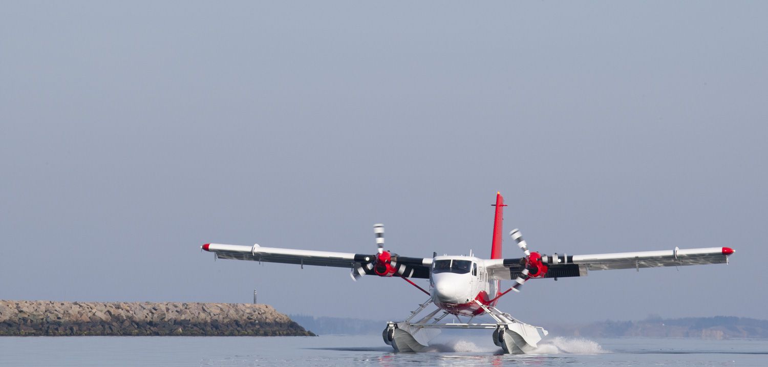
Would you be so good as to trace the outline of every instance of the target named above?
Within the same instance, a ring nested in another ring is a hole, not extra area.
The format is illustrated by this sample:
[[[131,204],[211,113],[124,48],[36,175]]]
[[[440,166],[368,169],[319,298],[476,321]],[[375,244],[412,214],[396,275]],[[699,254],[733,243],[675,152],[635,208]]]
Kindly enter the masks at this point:
[[[399,322],[387,322],[382,332],[384,342],[396,352],[423,352],[441,329],[493,330],[493,342],[505,353],[534,352],[538,342],[548,335],[541,326],[531,326],[496,308],[498,300],[509,292],[519,292],[530,279],[554,279],[586,276],[590,270],[637,269],[659,266],[687,266],[728,263],[730,247],[707,247],[641,251],[631,253],[598,253],[594,255],[551,255],[528,250],[519,230],[509,233],[522,251],[521,257],[502,257],[502,221],[506,207],[504,197],[496,193],[491,258],[473,256],[408,257],[384,250],[384,225],[374,224],[376,253],[336,253],[277,247],[206,243],[202,250],[218,259],[250,260],[266,263],[289,263],[303,266],[337,266],[350,269],[353,280],[361,276],[402,278],[429,298]],[[429,279],[424,289],[411,279]],[[510,280],[511,286],[502,287]],[[448,317],[446,319],[447,316]],[[495,322],[472,322],[488,315]],[[465,322],[460,322],[461,318]],[[446,320],[446,321],[444,321]],[[449,322],[450,321],[450,322]],[[458,322],[457,322],[458,321]]]

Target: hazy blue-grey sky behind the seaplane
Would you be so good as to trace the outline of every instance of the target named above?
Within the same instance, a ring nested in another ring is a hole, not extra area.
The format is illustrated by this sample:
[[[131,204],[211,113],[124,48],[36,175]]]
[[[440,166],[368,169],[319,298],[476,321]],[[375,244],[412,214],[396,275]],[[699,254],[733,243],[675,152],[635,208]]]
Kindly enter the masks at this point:
[[[766,2],[0,8],[0,299],[402,319],[400,279],[200,245],[488,257],[501,191],[541,253],[736,250],[531,280],[518,319],[768,319]]]

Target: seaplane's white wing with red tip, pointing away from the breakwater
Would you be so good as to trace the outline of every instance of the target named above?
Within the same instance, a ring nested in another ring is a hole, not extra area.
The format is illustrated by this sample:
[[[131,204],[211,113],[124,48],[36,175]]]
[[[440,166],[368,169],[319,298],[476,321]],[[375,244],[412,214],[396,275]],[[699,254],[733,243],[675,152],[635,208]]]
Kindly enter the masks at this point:
[[[598,253],[594,255],[541,256],[548,267],[545,278],[586,276],[588,270],[640,269],[660,266],[687,266],[727,263],[735,251],[730,247],[641,251],[634,253]],[[516,279],[524,269],[525,259],[485,260],[491,279]]]

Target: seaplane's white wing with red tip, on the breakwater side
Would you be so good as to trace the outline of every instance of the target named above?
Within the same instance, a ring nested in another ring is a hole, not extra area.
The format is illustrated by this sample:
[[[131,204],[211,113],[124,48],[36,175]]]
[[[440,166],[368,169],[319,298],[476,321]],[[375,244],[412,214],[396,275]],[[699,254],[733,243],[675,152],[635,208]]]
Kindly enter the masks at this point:
[[[329,251],[283,249],[277,247],[225,245],[221,243],[206,243],[203,250],[215,253],[219,259],[251,260],[265,263],[288,263],[300,266],[336,266],[349,269],[361,269],[368,275],[376,275],[375,255],[359,253],[333,253]],[[429,279],[431,258],[406,257],[392,255],[390,265],[398,276],[406,278]],[[394,274],[389,274],[389,276]]]

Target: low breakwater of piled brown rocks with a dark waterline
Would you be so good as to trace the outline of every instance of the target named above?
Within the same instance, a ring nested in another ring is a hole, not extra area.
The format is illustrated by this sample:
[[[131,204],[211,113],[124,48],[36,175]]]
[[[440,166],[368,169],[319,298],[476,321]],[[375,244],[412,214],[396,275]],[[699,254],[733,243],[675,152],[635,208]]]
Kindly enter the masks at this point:
[[[0,336],[313,336],[267,305],[0,300]]]

